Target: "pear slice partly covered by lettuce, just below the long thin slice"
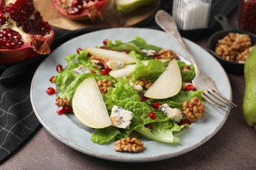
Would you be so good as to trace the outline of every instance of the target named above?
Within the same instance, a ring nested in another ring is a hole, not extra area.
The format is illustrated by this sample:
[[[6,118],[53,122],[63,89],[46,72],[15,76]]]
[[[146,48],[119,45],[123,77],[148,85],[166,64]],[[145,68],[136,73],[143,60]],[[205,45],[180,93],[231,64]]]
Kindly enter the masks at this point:
[[[144,63],[144,65],[148,64],[149,60],[142,60],[141,62]],[[160,59],[163,63],[170,61],[170,59]],[[126,76],[127,78],[133,76],[133,71],[135,69],[135,64],[125,65],[121,69],[112,70],[110,71],[110,76],[113,76],[115,79],[120,78],[122,76]]]

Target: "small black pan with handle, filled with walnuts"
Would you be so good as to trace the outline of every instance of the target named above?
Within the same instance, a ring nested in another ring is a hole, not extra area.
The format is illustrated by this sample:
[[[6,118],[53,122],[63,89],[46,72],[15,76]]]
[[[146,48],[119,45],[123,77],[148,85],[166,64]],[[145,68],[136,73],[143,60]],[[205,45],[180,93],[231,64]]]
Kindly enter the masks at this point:
[[[229,73],[244,73],[247,55],[256,44],[256,35],[247,31],[231,29],[225,16],[215,16],[223,31],[214,33],[207,50]]]

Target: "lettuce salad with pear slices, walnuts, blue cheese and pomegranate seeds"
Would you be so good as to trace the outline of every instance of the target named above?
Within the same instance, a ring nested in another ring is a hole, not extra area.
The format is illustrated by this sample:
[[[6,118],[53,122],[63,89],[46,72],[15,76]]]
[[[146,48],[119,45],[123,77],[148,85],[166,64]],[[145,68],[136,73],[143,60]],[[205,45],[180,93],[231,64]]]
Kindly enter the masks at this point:
[[[56,93],[58,114],[74,114],[93,129],[93,143],[116,141],[116,151],[129,152],[142,150],[140,137],[179,143],[175,135],[203,118],[203,91],[192,84],[194,67],[173,50],[140,37],[105,39],[65,60],[67,67],[57,65],[58,74],[49,79],[56,88],[46,92]]]

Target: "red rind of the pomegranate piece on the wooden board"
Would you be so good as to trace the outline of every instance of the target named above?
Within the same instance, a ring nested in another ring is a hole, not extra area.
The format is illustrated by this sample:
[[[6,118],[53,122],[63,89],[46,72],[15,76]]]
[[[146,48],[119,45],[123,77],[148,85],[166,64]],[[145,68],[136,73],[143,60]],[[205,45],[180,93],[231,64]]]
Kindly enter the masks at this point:
[[[91,7],[84,7],[83,12],[77,15],[70,15],[63,7],[60,7],[56,0],[52,0],[54,9],[58,10],[60,14],[70,20],[91,20],[95,21],[96,18],[103,20],[102,12],[108,8],[112,0],[97,1]]]

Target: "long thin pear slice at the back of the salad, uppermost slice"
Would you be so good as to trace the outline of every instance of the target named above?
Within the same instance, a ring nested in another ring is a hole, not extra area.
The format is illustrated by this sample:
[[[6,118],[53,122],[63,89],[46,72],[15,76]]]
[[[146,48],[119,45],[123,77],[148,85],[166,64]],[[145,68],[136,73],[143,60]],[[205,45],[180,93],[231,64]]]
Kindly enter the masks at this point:
[[[124,52],[117,52],[114,50],[106,50],[102,48],[87,48],[87,50],[93,56],[103,56],[104,58],[122,61],[125,64],[136,63],[138,61],[137,58],[133,58]]]

